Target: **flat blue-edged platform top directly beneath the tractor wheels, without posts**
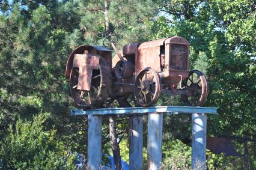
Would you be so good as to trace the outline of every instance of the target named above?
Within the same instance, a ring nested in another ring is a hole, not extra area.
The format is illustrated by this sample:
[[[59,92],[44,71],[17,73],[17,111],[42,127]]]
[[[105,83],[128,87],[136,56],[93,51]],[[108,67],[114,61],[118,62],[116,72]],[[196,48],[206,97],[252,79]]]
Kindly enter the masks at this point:
[[[164,114],[217,114],[217,108],[192,107],[192,106],[155,106],[155,107],[132,107],[132,108],[104,108],[83,111],[82,109],[72,109],[70,115],[143,115],[150,112]]]

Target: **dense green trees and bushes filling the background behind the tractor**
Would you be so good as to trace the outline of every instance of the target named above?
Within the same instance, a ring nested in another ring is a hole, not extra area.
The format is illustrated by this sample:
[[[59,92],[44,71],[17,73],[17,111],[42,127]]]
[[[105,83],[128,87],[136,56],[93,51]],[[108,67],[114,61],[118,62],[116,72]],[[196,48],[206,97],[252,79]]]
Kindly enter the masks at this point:
[[[190,66],[203,70],[210,83],[205,106],[218,107],[219,114],[208,121],[209,136],[256,139],[256,1],[106,2],[119,48],[172,35],[189,40]],[[105,1],[100,0],[0,1],[0,169],[70,169],[75,153],[87,155],[87,119],[69,116],[75,106],[64,71],[76,46],[102,45],[104,10]],[[163,96],[158,105],[182,103]],[[177,140],[190,138],[187,119],[165,117],[165,165],[190,164],[190,147]],[[128,122],[117,119],[125,160]],[[103,151],[109,154],[108,120],[103,124]],[[244,141],[233,142],[244,154]],[[255,169],[254,142],[248,151],[249,166]],[[207,157],[211,169],[248,167],[243,157]]]

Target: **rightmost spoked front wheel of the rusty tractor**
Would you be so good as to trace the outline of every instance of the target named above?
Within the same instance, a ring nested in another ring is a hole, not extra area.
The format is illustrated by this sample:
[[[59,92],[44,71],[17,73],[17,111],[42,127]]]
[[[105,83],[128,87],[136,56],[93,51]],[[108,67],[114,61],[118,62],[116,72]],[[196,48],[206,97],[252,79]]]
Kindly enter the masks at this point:
[[[187,94],[181,94],[181,100],[186,106],[202,106],[208,96],[208,83],[201,71],[189,71],[189,77],[182,81],[187,87]]]

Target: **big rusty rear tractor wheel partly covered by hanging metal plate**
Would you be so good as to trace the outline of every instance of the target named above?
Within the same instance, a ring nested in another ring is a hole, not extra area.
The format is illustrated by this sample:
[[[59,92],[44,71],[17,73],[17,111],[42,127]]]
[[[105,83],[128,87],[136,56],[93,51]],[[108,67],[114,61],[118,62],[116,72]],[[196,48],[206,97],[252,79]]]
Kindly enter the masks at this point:
[[[78,68],[73,67],[70,74],[70,92],[74,102],[84,109],[107,106],[109,91],[111,91],[111,67],[106,59],[100,58],[99,69],[92,70],[91,78],[88,80],[88,82],[91,81],[88,91],[79,90],[79,71]]]

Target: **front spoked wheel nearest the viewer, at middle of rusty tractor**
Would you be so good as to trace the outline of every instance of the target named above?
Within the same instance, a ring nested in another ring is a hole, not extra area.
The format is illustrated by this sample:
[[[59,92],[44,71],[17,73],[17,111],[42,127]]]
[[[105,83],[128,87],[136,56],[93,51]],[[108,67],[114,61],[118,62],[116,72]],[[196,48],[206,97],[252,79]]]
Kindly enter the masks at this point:
[[[135,79],[135,99],[138,105],[147,107],[156,103],[160,96],[160,78],[156,70],[147,67]]]

